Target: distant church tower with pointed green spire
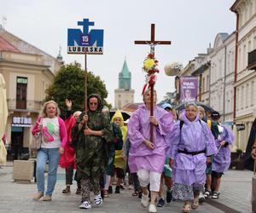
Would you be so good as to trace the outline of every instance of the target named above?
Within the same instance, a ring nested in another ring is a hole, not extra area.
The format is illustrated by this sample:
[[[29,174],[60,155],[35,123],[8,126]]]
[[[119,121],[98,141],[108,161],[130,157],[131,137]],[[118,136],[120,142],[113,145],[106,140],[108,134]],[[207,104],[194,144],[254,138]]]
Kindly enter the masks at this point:
[[[131,89],[131,72],[128,69],[126,59],[119,72],[119,89],[114,89],[114,107],[121,109],[127,103],[133,103],[134,89]]]

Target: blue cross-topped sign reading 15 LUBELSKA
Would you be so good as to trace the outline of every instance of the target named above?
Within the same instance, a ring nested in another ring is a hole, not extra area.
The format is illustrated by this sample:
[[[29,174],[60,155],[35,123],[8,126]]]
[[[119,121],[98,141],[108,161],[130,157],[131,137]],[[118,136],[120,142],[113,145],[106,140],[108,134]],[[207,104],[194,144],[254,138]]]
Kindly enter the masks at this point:
[[[67,54],[103,54],[103,30],[92,29],[89,32],[89,26],[94,26],[94,22],[89,19],[78,21],[78,26],[83,26],[83,32],[80,29],[67,29]]]

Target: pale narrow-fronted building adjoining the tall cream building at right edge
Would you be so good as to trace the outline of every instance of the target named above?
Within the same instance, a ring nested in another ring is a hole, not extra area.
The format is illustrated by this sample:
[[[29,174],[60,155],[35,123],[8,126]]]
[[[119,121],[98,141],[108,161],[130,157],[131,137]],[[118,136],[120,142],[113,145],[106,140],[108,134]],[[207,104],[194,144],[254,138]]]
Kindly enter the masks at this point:
[[[220,113],[222,123],[230,126],[233,122],[235,38],[235,33],[218,33],[209,55],[210,105]]]

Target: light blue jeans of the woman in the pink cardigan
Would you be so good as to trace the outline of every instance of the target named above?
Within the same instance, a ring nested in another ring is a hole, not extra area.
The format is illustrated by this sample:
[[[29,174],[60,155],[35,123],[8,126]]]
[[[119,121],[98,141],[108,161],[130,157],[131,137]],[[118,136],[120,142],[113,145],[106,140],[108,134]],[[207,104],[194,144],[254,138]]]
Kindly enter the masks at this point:
[[[38,193],[44,192],[44,170],[45,164],[48,163],[48,180],[46,195],[51,196],[55,189],[57,179],[57,169],[60,161],[59,148],[41,148],[38,150],[37,157],[37,179]]]

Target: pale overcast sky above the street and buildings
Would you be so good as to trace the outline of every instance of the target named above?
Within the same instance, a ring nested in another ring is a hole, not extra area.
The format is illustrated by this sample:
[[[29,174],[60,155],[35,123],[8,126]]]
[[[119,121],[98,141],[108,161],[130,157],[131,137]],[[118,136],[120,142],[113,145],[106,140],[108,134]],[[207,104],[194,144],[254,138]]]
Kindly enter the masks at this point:
[[[156,40],[171,40],[172,45],[155,47],[160,74],[156,83],[159,101],[174,91],[174,78],[166,76],[164,66],[180,61],[186,66],[198,53],[206,53],[218,32],[234,32],[236,15],[230,11],[235,0],[9,0],[1,1],[0,18],[5,29],[49,55],[58,55],[59,46],[65,63],[79,61],[82,55],[67,55],[67,29],[80,28],[77,22],[88,18],[93,29],[104,30],[104,54],[89,55],[88,70],[100,76],[108,89],[108,102],[114,104],[118,73],[125,57],[131,72],[135,102],[141,102],[145,81],[143,60],[147,45],[135,40],[150,39],[155,24]],[[92,29],[92,28],[90,28]]]

